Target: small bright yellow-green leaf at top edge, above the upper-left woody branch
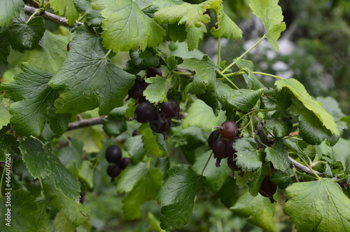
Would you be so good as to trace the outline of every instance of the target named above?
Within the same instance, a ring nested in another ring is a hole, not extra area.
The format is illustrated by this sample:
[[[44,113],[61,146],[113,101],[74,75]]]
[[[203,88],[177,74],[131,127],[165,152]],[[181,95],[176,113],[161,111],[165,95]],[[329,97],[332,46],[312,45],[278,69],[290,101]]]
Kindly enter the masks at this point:
[[[79,18],[79,11],[73,0],[50,0],[50,7],[68,20],[69,25],[73,25]]]

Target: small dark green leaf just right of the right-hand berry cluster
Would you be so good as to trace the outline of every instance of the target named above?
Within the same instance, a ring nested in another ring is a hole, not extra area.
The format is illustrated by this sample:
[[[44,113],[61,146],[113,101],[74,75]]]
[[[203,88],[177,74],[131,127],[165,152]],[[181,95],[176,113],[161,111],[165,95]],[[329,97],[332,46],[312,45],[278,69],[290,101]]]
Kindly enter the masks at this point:
[[[274,137],[285,137],[289,135],[293,128],[293,124],[290,123],[291,118],[265,118],[264,128],[271,132]]]

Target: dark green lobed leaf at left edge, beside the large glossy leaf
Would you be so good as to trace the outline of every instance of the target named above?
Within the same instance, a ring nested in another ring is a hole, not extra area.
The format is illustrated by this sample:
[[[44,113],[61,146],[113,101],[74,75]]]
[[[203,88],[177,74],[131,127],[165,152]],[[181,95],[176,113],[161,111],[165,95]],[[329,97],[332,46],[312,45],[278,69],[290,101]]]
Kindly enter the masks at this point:
[[[15,81],[0,86],[0,90],[6,90],[6,95],[15,101],[10,105],[10,114],[13,114],[10,121],[16,133],[39,136],[48,122],[56,134],[62,135],[71,116],[55,113],[53,103],[58,92],[47,86],[52,74],[28,63],[22,64],[22,71],[15,76]]]

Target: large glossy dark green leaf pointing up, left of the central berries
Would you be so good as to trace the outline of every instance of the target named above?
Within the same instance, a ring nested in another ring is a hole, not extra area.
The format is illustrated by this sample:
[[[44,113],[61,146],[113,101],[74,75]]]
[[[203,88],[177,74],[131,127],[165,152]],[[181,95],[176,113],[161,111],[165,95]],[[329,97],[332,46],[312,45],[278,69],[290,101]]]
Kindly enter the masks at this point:
[[[79,27],[70,46],[62,67],[48,83],[60,91],[55,101],[57,112],[78,114],[99,107],[99,114],[104,115],[123,106],[134,75],[104,58],[100,38],[93,29]]]

